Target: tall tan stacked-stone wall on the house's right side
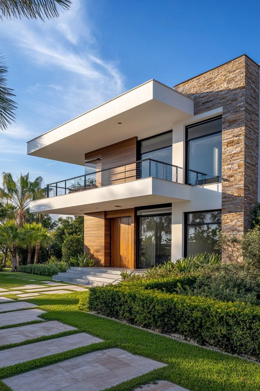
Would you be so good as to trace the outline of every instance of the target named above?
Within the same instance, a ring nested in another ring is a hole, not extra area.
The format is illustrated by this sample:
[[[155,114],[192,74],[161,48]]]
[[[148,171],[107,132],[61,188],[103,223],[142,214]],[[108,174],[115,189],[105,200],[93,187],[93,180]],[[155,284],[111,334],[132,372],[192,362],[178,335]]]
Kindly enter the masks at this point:
[[[243,55],[175,89],[194,99],[195,115],[223,107],[222,231],[240,237],[257,201],[259,66]]]

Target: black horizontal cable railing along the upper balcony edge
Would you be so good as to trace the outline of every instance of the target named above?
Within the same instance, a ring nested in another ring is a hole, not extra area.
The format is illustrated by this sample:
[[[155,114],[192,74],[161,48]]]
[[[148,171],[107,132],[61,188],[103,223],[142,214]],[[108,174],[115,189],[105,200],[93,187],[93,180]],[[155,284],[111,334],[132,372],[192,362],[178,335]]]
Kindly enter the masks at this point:
[[[159,178],[166,181],[182,183],[182,168],[163,163],[162,161],[145,159],[128,163],[111,169],[84,174],[47,185],[47,197],[71,194],[82,190],[116,185],[141,178]]]

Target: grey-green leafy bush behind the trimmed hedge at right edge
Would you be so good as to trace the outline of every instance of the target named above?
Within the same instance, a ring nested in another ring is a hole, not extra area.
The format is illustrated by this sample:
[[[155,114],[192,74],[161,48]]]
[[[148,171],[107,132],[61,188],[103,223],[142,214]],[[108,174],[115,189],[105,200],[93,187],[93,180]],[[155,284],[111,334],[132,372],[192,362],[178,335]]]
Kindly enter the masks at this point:
[[[193,285],[178,285],[175,291],[260,305],[260,273],[246,265],[216,265],[198,271]]]

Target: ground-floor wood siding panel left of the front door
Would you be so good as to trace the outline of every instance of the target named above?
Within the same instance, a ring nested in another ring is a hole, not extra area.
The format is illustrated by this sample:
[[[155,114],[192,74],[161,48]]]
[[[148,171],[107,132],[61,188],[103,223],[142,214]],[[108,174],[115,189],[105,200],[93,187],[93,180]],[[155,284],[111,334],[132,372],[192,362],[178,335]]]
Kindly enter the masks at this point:
[[[105,218],[105,213],[84,216],[84,251],[98,266],[110,266],[110,221]]]

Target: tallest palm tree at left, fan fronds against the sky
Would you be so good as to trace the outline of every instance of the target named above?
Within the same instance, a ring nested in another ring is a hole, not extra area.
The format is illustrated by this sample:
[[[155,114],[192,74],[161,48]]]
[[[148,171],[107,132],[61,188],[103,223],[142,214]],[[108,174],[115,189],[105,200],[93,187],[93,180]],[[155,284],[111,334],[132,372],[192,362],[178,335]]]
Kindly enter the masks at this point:
[[[27,219],[27,208],[29,202],[34,199],[43,198],[45,189],[42,188],[43,179],[38,176],[34,181],[30,181],[29,173],[17,178],[12,178],[9,172],[3,172],[3,185],[0,187],[0,199],[11,202],[16,207],[16,221],[18,227],[21,227]]]

